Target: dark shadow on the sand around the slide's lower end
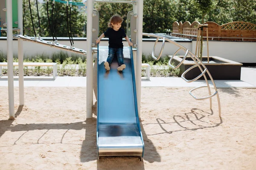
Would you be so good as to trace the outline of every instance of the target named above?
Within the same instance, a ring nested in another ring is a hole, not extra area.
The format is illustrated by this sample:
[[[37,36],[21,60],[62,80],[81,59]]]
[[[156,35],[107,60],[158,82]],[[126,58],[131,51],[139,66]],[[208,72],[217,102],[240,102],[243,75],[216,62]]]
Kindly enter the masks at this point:
[[[93,114],[96,113],[97,102],[93,105]],[[87,119],[85,124],[86,134],[85,140],[81,149],[81,162],[88,162],[97,160],[97,146],[96,146],[96,125],[97,119]],[[144,157],[145,161],[150,163],[157,161],[160,162],[160,155],[157,153],[156,147],[150,139],[145,135],[143,126],[140,124],[141,131],[143,133],[143,140],[145,143]],[[113,163],[111,163],[113,162]],[[144,170],[144,163],[140,161],[138,156],[101,156],[97,161],[98,170],[110,170],[110,169],[136,169]]]

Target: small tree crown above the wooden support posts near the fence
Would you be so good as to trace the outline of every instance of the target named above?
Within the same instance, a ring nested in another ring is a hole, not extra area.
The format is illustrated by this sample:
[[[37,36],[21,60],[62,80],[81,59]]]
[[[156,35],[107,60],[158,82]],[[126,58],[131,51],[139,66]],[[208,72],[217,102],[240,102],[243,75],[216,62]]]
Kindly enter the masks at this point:
[[[204,23],[204,17],[210,11],[215,9],[218,0],[191,0],[191,4],[198,10],[202,15],[202,23]]]

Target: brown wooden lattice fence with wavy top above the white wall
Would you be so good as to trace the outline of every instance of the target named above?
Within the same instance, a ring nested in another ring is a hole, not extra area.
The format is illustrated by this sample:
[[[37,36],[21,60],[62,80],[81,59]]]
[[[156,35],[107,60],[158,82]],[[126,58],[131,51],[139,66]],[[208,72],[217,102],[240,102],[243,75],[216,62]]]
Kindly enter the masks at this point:
[[[192,24],[189,21],[172,24],[172,35],[176,37],[185,37],[196,39],[198,34],[198,21]],[[228,41],[256,41],[256,24],[247,22],[232,22],[218,25],[215,22],[206,22],[208,24],[209,40],[228,40]],[[206,37],[206,28],[203,36]]]

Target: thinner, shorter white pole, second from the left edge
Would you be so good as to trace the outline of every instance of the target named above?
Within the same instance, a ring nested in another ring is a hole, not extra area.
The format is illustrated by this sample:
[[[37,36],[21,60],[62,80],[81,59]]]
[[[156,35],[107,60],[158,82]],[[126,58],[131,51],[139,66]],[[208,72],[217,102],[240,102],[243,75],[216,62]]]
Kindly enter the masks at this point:
[[[23,11],[22,1],[18,0],[18,28],[21,35],[23,35]],[[18,60],[19,60],[19,96],[20,105],[24,105],[24,73],[23,73],[23,41],[18,39]]]

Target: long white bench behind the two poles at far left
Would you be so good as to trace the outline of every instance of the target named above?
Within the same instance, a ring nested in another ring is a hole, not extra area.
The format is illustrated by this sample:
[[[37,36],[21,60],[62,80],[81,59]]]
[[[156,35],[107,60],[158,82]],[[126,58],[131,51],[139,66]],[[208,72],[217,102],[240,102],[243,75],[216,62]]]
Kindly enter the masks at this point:
[[[2,67],[8,66],[7,62],[0,62],[0,77],[2,77]],[[19,66],[18,62],[14,62],[13,66]],[[44,66],[44,67],[52,67],[53,68],[53,79],[57,77],[57,63],[56,62],[23,62],[23,66]]]

